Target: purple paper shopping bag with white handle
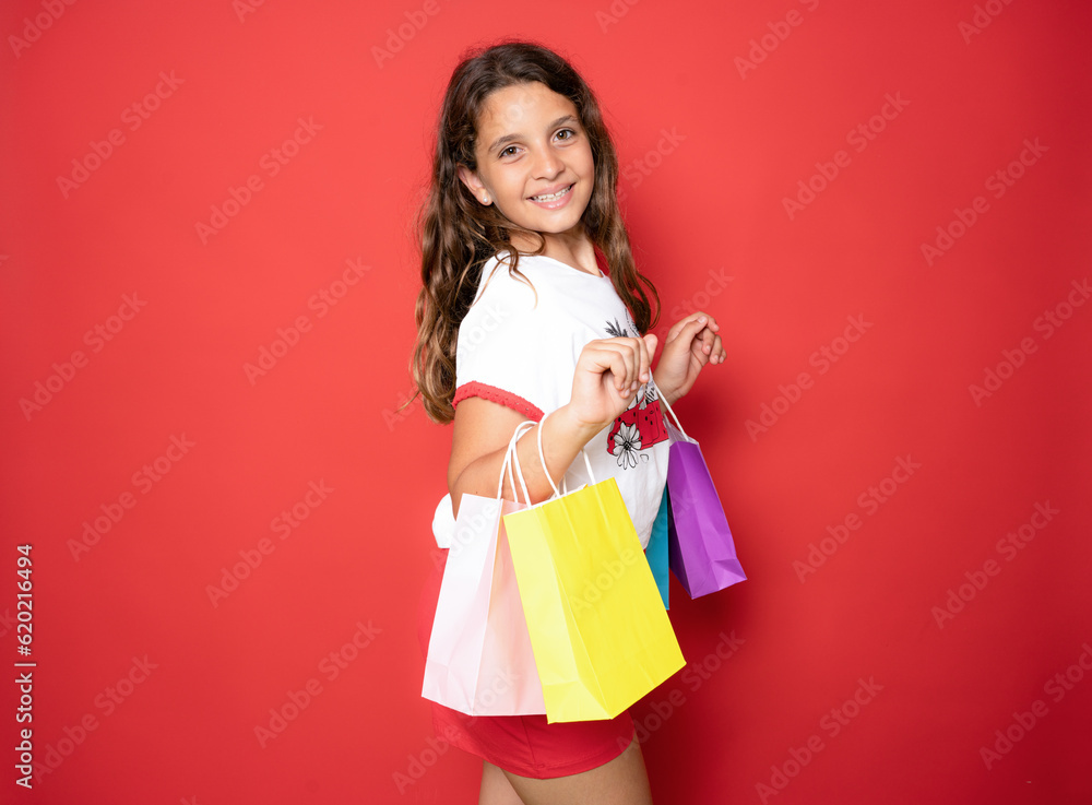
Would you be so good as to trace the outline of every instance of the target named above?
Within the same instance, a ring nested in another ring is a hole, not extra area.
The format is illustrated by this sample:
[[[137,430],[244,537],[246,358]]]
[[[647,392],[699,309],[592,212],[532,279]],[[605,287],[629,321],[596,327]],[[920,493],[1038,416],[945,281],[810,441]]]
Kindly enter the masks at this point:
[[[732,530],[701,448],[682,430],[667,401],[661,401],[678,426],[667,423],[668,564],[690,597],[697,599],[747,576],[736,558]]]

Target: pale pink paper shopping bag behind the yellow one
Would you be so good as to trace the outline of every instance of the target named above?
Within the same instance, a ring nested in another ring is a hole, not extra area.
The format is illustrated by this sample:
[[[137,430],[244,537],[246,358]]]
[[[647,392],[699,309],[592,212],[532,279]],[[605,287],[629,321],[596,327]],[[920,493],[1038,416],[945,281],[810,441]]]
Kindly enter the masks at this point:
[[[497,497],[461,497],[440,581],[422,696],[468,715],[546,712],[501,520],[525,508],[501,490],[515,441],[532,425],[522,423],[509,442]]]

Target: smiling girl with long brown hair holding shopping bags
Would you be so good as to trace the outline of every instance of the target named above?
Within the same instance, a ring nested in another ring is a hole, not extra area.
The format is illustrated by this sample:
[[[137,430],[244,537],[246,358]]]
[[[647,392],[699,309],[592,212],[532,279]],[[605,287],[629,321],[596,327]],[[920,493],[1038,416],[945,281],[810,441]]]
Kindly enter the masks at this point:
[[[531,501],[550,496],[546,473],[570,489],[586,483],[583,461],[573,463],[585,450],[597,480],[617,480],[648,544],[667,470],[660,398],[686,394],[725,353],[717,323],[697,312],[670,328],[653,369],[649,295],[658,297],[633,265],[617,181],[595,97],[562,58],[508,42],[455,68],[418,221],[412,364],[429,417],[454,423],[450,494],[434,522],[441,547],[464,493],[495,496],[526,419],[542,423],[517,445]],[[503,497],[515,499],[507,481]],[[439,580],[440,568],[422,595],[425,651]],[[628,713],[547,724],[432,708],[438,734],[484,760],[479,803],[652,802]]]

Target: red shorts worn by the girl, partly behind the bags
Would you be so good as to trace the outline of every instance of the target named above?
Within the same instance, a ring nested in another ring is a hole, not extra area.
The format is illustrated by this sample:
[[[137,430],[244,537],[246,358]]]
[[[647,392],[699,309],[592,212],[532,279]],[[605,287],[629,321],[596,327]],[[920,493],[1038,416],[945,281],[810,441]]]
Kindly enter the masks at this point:
[[[440,552],[417,609],[422,655],[428,653],[436,602],[448,552]],[[466,715],[432,705],[432,726],[452,746],[520,777],[546,779],[589,771],[614,760],[633,739],[633,720],[622,712],[609,721],[546,723],[545,715]]]

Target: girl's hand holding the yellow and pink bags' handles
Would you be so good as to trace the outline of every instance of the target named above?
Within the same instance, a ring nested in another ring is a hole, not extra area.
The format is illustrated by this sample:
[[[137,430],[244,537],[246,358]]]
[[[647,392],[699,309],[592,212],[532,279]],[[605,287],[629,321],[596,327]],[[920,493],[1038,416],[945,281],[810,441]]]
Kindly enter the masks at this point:
[[[574,421],[594,435],[629,407],[652,377],[657,339],[620,336],[589,342],[577,359],[569,407]]]

